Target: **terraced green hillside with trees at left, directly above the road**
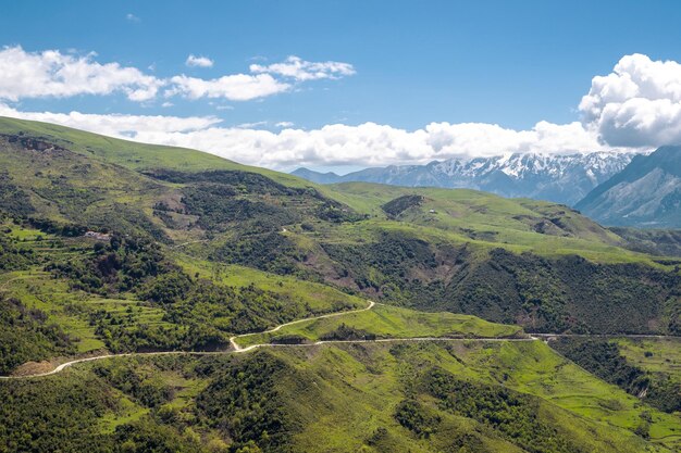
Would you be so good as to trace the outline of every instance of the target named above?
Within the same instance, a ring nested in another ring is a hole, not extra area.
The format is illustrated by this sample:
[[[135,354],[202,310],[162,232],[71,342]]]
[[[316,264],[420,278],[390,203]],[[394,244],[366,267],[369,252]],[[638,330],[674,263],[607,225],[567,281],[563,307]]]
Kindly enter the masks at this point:
[[[74,229],[53,223],[39,226],[57,232],[20,221],[0,225],[11,269],[0,274],[3,374],[25,362],[104,348],[226,348],[234,334],[366,304],[319,284],[253,269],[216,268],[186,256],[176,264],[146,238],[102,241],[61,236]],[[211,272],[212,278],[201,278]]]

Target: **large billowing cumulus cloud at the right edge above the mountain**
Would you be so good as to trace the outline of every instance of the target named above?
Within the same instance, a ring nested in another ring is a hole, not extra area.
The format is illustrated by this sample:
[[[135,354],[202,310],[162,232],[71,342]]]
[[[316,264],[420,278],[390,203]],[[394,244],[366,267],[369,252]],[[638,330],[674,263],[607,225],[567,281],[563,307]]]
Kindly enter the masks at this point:
[[[579,110],[586,127],[616,147],[681,143],[681,64],[623,56],[592,79]]]

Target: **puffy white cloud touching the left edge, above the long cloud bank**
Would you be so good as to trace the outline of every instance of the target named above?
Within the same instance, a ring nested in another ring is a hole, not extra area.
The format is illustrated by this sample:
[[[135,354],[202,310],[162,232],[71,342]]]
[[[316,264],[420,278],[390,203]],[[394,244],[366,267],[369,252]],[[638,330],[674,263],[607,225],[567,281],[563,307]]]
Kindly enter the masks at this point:
[[[135,67],[100,64],[95,54],[63,54],[58,50],[26,52],[21,47],[0,50],[0,99],[65,98],[123,92],[132,101],[153,99],[163,85]]]

